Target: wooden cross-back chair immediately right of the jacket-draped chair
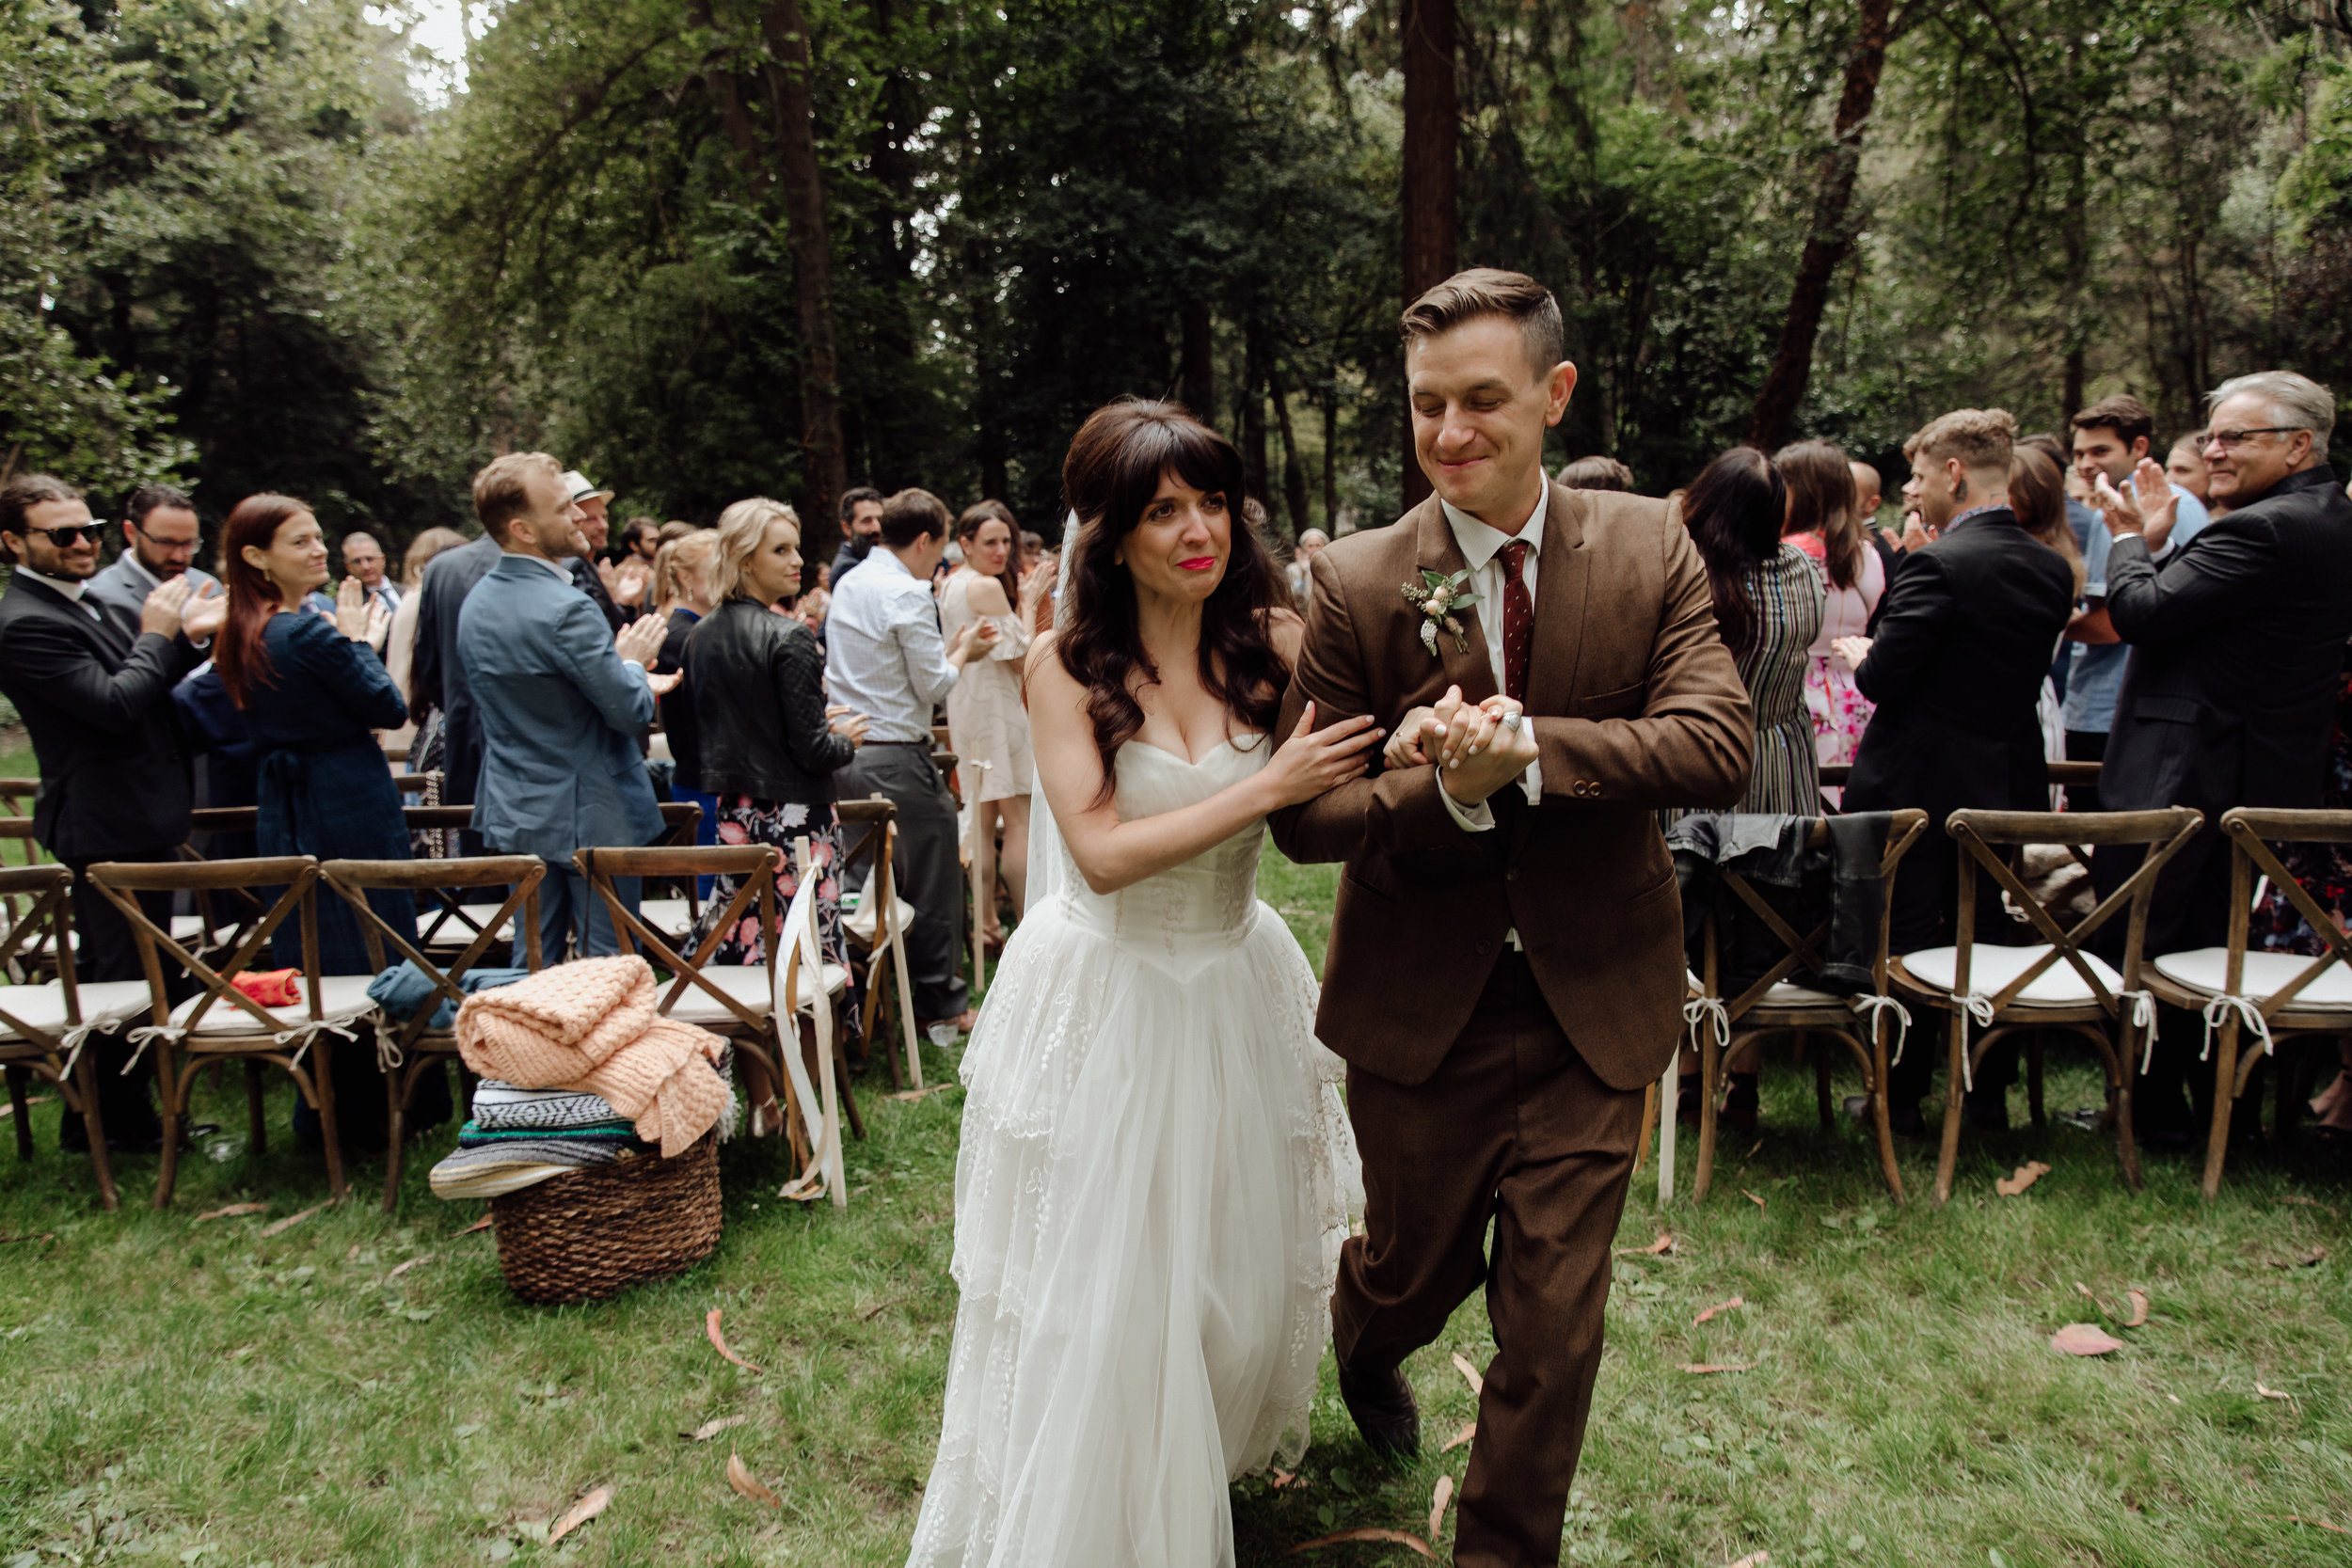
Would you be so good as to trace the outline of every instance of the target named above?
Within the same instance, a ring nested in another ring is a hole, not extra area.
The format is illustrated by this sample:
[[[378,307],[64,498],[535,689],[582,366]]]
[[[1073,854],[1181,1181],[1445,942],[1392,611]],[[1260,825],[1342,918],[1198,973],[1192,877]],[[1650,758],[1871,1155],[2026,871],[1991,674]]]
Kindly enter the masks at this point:
[[[1893,959],[1896,994],[1924,1006],[1947,1025],[1947,1081],[1943,1100],[1943,1150],[1936,1159],[1936,1204],[1952,1197],[1959,1164],[1962,1095],[1976,1067],[2002,1037],[2025,1030],[2027,1098],[2042,1124],[2042,1039],[2046,1030],[2077,1034],[2098,1051],[2114,1110],[2117,1157],[2124,1182],[2140,1190],[2140,1152],[2131,1133],[2133,1041],[2157,1027],[2154,997],[2143,987],[2147,905],[2157,872],[2180,853],[2204,816],[2187,806],[2161,811],[1955,811],[1945,832],[1959,842],[1959,914],[1952,947],[1905,952]],[[2140,844],[2140,865],[2112,893],[2074,922],[2060,926],[2049,905],[2025,886],[2013,860],[2027,846],[2056,846],[2084,860],[2086,849]],[[2037,943],[1994,947],[1976,940],[1978,886],[1990,877],[2011,910],[2023,914]],[[2114,914],[2126,914],[2124,966],[2089,950],[2089,938]],[[1971,1030],[1978,1034],[1971,1039]]]

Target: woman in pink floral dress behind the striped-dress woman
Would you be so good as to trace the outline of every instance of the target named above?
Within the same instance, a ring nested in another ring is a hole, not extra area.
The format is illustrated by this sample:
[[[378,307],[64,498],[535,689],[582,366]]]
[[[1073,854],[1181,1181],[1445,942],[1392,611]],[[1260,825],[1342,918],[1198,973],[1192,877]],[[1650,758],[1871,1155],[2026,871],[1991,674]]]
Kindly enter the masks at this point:
[[[1853,665],[1830,644],[1860,637],[1870,614],[1886,592],[1886,564],[1870,545],[1867,520],[1853,508],[1853,468],[1830,442],[1797,442],[1773,456],[1788,484],[1788,543],[1813,557],[1828,578],[1830,597],[1820,609],[1820,635],[1813,637],[1804,670],[1804,708],[1813,717],[1813,762],[1844,766],[1863,743],[1870,724],[1870,698],[1853,686]],[[1835,792],[1830,792],[1835,799]]]

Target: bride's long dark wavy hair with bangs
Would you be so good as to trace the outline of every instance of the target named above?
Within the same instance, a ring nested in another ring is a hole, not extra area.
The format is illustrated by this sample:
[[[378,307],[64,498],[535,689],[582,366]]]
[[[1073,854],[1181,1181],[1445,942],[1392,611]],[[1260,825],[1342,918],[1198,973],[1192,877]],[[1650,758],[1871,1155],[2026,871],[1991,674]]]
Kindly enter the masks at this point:
[[[1143,703],[1129,689],[1136,670],[1145,684],[1160,670],[1143,651],[1136,581],[1115,557],[1160,494],[1162,475],[1225,496],[1230,548],[1225,576],[1200,616],[1200,684],[1225,703],[1247,729],[1272,731],[1289,672],[1275,649],[1268,616],[1289,604],[1282,574],[1265,541],[1242,520],[1242,454],[1181,404],[1124,397],[1096,409],[1061,465],[1061,489],[1077,512],[1070,545],[1070,623],[1054,654],[1087,689],[1094,748],[1103,755],[1103,792],[1112,792],[1112,759],[1143,729]]]

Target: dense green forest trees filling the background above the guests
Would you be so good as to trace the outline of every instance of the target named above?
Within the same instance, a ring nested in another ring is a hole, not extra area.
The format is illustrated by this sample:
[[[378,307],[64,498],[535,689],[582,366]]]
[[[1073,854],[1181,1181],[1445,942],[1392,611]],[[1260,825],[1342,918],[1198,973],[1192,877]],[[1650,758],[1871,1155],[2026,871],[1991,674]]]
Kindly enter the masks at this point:
[[[1750,435],[1893,468],[1947,407],[2352,388],[2324,0],[508,0],[454,82],[400,7],[0,0],[0,461],[405,541],[529,444],[821,545],[844,484],[1049,520],[1134,393],[1277,534],[1381,524],[1439,14],[1454,254],[1583,369],[1557,461],[1663,494]]]

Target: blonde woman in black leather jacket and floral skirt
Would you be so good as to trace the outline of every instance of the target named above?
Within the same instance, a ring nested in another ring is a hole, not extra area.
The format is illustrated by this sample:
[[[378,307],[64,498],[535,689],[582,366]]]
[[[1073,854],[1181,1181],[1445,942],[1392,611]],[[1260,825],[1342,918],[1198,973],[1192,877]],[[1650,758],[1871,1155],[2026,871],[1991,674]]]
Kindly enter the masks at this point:
[[[866,738],[863,715],[826,708],[826,654],[795,616],[771,604],[800,592],[800,517],[764,496],[720,512],[710,562],[713,609],[687,639],[684,696],[694,701],[694,757],[680,773],[717,797],[720,844],[776,844],[776,896],[800,891],[793,842],[807,839],[816,875],[816,922],[828,964],[849,964],[842,940],[842,825],[833,773]],[[696,945],[734,898],[720,877]],[[713,964],[764,964],[757,910],[724,933]],[[760,1103],[755,1093],[753,1103]]]

